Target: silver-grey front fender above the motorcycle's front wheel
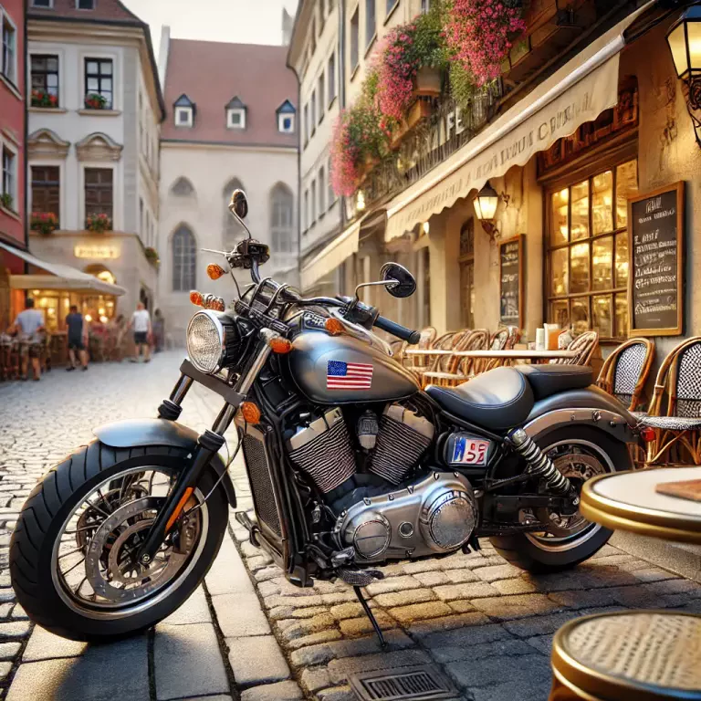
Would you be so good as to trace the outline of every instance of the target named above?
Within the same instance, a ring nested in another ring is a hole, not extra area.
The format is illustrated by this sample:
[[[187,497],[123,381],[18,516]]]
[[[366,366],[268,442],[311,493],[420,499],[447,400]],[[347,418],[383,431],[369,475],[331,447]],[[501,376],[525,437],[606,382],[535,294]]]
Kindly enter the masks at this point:
[[[93,429],[92,433],[104,445],[111,448],[142,448],[147,445],[166,445],[172,448],[194,450],[199,434],[192,428],[166,419],[125,419],[104,424]],[[236,506],[236,493],[231,477],[219,455],[214,455],[210,465],[217,476],[222,476],[226,498],[232,507]]]

